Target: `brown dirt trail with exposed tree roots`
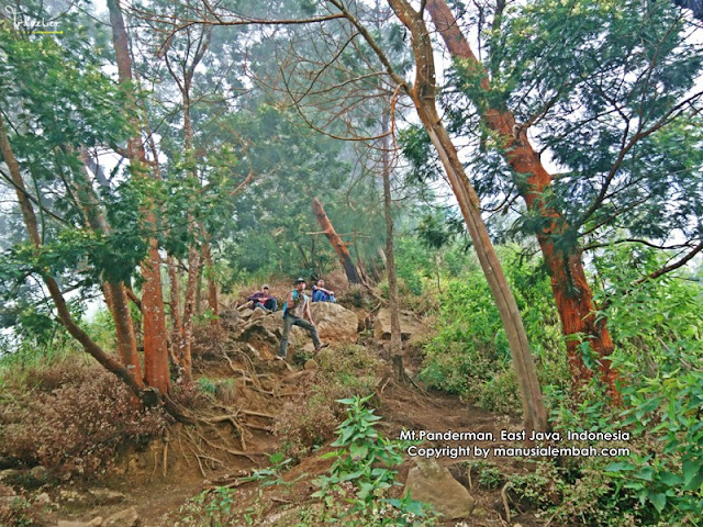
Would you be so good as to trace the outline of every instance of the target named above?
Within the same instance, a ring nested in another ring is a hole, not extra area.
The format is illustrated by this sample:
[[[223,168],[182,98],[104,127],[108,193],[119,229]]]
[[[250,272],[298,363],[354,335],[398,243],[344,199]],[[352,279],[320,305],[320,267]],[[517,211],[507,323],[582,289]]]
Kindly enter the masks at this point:
[[[375,354],[382,352],[378,343],[371,343],[371,346]],[[316,490],[312,480],[324,473],[332,463],[331,460],[320,459],[319,453],[330,450],[328,445],[334,438],[330,438],[327,446],[321,448],[317,455],[304,458],[300,464],[284,472],[282,481],[287,483],[259,486],[260,481],[243,482],[241,479],[256,469],[267,467],[268,455],[279,448],[279,438],[272,435],[272,417],[291,397],[302,401],[310,396],[316,374],[314,370],[304,370],[301,366],[291,368],[280,361],[253,357],[250,350],[246,345],[230,339],[211,349],[197,363],[197,377],[207,377],[214,383],[236,380],[231,404],[212,397],[201,407],[201,418],[221,418],[216,425],[192,427],[172,424],[167,436],[160,441],[153,441],[146,451],[125,453],[118,463],[119,470],[99,485],[122,493],[124,497],[119,503],[100,505],[87,498],[90,496],[89,490],[94,486],[86,482],[54,489],[51,493],[54,501],[47,507],[46,518],[54,522],[58,518],[89,522],[97,516],[105,518],[126,507],[135,507],[143,527],[193,525],[187,522],[191,515],[188,512],[189,500],[203,490],[221,485],[236,486],[233,506],[239,520],[227,525],[287,525],[286,515],[290,511],[294,515],[300,507],[310,506],[310,494]],[[416,371],[420,357],[411,351],[406,362],[411,371]],[[495,438],[500,438],[501,429],[520,428],[516,419],[472,407],[456,396],[438,392],[422,393],[413,386],[401,386],[388,382],[388,377],[379,383],[376,392],[377,414],[382,417],[379,429],[390,438],[399,438],[403,428],[490,431]],[[232,419],[227,419],[227,416]],[[498,444],[493,441],[482,446]],[[455,442],[435,441],[435,445],[445,447]],[[471,486],[470,493],[477,500],[477,516],[464,525],[503,525],[501,514],[504,507],[500,490],[479,489],[472,483],[470,473],[467,479],[467,468],[462,461],[466,459],[439,459],[440,463],[450,467],[459,481]],[[523,470],[520,462],[510,459],[493,461],[504,473]],[[412,466],[412,460],[406,459],[400,467],[398,481],[405,481]],[[539,525],[529,514],[512,519],[524,527]]]

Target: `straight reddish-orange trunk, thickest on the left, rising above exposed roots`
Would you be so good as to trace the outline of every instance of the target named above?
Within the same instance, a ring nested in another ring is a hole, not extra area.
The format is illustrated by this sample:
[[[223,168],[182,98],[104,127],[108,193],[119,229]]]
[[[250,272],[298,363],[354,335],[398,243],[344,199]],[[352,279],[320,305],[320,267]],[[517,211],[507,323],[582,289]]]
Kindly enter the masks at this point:
[[[118,76],[120,83],[132,81],[132,59],[130,57],[130,43],[122,11],[118,0],[108,0],[110,11],[110,24],[112,25],[112,41],[118,61]],[[135,130],[141,130],[138,108],[132,101],[132,122]],[[148,177],[146,153],[138,135],[127,141],[127,156],[134,177]],[[142,211],[144,223],[156,229],[156,214],[153,206],[145,206]],[[155,237],[148,239],[148,253],[141,266],[144,279],[142,293],[142,317],[144,319],[144,375],[146,383],[158,389],[163,394],[170,389],[170,374],[168,369],[168,349],[166,316],[164,313],[164,296],[161,292],[160,257],[158,254],[158,240]]]

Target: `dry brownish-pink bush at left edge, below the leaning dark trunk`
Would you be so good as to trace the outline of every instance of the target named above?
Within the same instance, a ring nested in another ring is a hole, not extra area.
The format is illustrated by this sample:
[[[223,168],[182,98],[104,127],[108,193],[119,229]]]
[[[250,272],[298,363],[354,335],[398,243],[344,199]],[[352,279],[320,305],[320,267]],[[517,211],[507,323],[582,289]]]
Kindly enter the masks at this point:
[[[33,378],[38,391],[0,407],[0,453],[55,472],[99,475],[118,449],[157,435],[160,413],[138,412],[132,394],[99,367]]]

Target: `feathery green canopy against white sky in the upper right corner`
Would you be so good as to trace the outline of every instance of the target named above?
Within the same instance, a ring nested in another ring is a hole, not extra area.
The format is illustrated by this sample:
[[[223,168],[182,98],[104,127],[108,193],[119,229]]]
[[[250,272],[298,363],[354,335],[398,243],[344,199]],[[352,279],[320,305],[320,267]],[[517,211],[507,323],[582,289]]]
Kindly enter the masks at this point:
[[[507,5],[483,33],[488,60],[456,60],[450,79],[460,94],[446,90],[443,100],[450,126],[471,144],[482,205],[498,209],[525,193],[528,175],[507,166],[506,137],[479,119],[507,110],[516,123],[539,123],[529,128],[535,144],[559,167],[540,195],[570,225],[555,237],[558,247],[606,242],[622,226],[624,239],[698,239],[703,133],[684,101],[700,97],[703,54],[692,31],[674,2]],[[486,75],[490,90],[480,86]],[[406,144],[416,170],[433,159],[421,142]],[[521,212],[514,227],[531,234],[553,220]]]

